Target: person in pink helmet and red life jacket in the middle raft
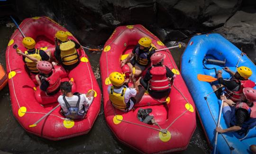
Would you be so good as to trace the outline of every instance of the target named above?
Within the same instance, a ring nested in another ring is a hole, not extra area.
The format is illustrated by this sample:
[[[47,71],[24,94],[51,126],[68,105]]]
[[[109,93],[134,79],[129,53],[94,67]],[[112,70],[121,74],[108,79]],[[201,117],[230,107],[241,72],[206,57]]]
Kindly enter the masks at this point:
[[[153,65],[148,68],[145,77],[140,79],[140,84],[155,99],[168,97],[171,92],[170,81],[175,75],[168,67],[163,65],[165,54],[157,52],[150,59]]]

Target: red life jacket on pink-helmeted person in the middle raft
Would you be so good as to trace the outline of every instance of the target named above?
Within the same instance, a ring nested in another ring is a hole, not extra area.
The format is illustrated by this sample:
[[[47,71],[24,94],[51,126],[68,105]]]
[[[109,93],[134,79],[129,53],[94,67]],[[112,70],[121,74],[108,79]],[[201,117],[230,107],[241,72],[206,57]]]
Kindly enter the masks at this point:
[[[151,80],[149,82],[149,88],[154,91],[164,91],[171,88],[170,80],[166,77],[166,67],[152,66],[149,73],[151,74]]]

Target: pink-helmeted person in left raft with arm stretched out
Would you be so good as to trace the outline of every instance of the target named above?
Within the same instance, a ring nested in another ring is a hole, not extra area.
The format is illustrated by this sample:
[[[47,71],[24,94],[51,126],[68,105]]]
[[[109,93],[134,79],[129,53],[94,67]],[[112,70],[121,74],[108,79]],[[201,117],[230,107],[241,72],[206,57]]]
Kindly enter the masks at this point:
[[[54,69],[56,63],[40,61],[29,54],[22,53],[20,50],[17,51],[17,54],[37,63],[37,70],[39,73],[36,75],[36,80],[41,91],[45,91],[48,96],[54,95],[60,91],[61,78],[60,74]]]

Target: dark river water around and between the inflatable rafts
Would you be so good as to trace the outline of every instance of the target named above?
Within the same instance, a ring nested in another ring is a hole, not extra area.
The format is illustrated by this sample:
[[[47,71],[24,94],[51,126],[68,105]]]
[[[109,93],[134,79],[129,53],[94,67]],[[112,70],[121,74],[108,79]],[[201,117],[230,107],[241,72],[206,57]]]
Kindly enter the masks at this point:
[[[6,26],[10,21],[0,21],[0,62],[5,66],[5,51],[9,38],[15,27]],[[166,46],[171,43],[166,43]],[[85,46],[85,45],[84,45]],[[175,62],[180,66],[180,57],[184,48],[172,50]],[[94,74],[101,86],[99,59],[100,52],[86,52],[89,56]],[[119,143],[106,124],[103,113],[103,102],[101,111],[93,128],[87,135],[78,136],[62,141],[50,141],[27,133],[13,117],[9,88],[6,86],[0,91],[0,153],[8,152],[14,154],[131,154],[137,153],[127,146]],[[186,126],[184,126],[186,127]],[[190,144],[182,154],[208,154],[210,150],[205,141],[201,125],[197,122],[197,128],[192,136]]]

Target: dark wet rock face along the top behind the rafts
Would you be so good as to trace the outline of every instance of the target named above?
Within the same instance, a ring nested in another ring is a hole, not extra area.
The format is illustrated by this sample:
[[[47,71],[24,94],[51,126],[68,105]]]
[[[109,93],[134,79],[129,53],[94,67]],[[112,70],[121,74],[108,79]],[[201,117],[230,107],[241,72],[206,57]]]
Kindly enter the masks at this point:
[[[250,0],[16,0],[20,20],[49,16],[68,28],[82,44],[102,45],[115,27],[142,24],[164,42],[214,31],[250,49],[255,47],[256,14],[252,8],[247,11],[241,8],[253,7],[255,3]]]

